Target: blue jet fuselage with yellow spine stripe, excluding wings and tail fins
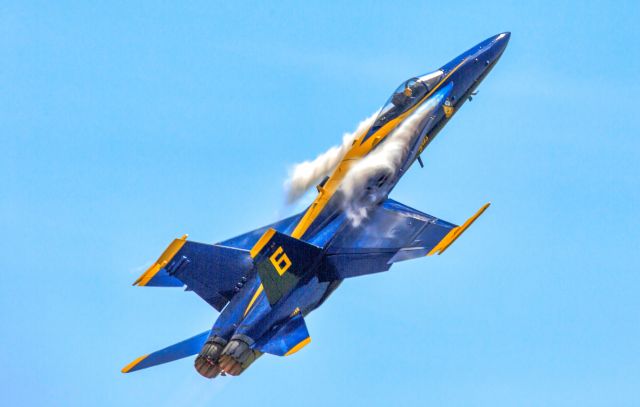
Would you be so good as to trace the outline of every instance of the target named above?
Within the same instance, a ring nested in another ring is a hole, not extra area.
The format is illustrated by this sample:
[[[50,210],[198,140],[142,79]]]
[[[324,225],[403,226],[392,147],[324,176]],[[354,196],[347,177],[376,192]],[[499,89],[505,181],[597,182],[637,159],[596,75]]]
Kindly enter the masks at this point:
[[[285,220],[288,224],[281,225],[281,230],[292,237],[323,247],[330,253],[332,242],[339,240],[341,229],[349,223],[340,195],[341,182],[349,169],[377,148],[383,148],[386,140],[393,137],[394,131],[413,120],[416,124],[413,130],[415,134],[399,171],[380,184],[376,184],[377,180],[366,181],[368,184],[373,183],[377,188],[372,194],[377,199],[369,204],[378,205],[386,199],[400,177],[493,68],[502,55],[509,37],[509,33],[502,33],[488,38],[454,58],[438,71],[415,78],[418,84],[423,77],[436,80],[432,81],[420,95],[420,99],[413,101],[410,106],[397,109],[392,101],[394,93],[382,108],[373,126],[356,138],[333,174],[319,187],[319,193],[307,211],[300,217]],[[399,91],[404,90],[403,86],[404,83],[398,88]],[[381,117],[393,109],[396,109],[395,112],[391,112],[391,116],[395,114],[394,117]],[[237,241],[231,240],[221,244],[234,246]],[[254,275],[224,309],[213,327],[212,334],[227,339],[236,336],[250,345],[258,340],[264,341],[268,339],[265,336],[268,337],[270,332],[275,331],[274,327],[292,313],[301,312],[306,315],[316,309],[339,284],[340,281],[322,282],[317,275],[309,274],[286,299],[270,306],[259,278]]]

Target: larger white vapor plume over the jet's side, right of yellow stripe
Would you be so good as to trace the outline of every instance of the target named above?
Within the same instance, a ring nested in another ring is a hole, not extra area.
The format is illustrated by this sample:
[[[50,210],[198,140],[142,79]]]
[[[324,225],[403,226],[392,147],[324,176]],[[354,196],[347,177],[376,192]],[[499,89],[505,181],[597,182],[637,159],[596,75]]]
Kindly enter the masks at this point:
[[[379,179],[393,180],[399,174],[424,119],[438,106],[434,98],[419,108],[396,128],[377,148],[351,167],[340,186],[347,217],[354,227],[367,218],[372,205],[377,204],[389,191],[369,188]]]

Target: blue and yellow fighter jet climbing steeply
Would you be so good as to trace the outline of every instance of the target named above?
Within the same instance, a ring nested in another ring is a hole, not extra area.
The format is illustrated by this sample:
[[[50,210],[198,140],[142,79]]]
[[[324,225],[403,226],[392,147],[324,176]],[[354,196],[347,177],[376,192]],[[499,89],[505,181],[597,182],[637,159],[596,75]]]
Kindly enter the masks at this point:
[[[508,32],[490,37],[440,69],[404,81],[355,136],[302,213],[213,245],[186,235],[174,240],[134,285],[186,286],[220,315],[211,329],[141,356],[122,372],[197,354],[195,369],[202,376],[239,375],[264,353],[288,356],[309,344],[304,318],[344,279],[447,250],[488,203],[455,225],[388,196],[415,161],[422,166],[420,154],[475,95],[509,37]],[[406,148],[398,168],[371,174],[357,194],[345,194],[349,171],[401,130]],[[348,213],[354,205],[366,212],[357,222]]]

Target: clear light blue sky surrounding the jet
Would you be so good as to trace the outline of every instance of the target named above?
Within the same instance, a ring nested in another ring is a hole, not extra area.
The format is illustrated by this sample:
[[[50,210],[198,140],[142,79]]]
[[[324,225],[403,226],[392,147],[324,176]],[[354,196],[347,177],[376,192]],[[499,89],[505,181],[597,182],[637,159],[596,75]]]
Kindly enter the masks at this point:
[[[3,2],[0,404],[640,405],[640,5],[484,3]],[[493,202],[446,254],[345,282],[239,378],[120,373],[216,318],[131,287],[171,239],[290,214],[292,163],[507,30],[392,195]]]

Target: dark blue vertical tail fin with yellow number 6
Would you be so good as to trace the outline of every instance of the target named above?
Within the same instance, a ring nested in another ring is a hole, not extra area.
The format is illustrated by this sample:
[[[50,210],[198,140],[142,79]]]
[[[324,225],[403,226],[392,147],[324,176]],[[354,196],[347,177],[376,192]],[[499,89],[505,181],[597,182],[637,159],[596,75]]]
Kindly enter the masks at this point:
[[[269,304],[289,293],[303,275],[318,266],[322,249],[268,229],[250,252]]]

